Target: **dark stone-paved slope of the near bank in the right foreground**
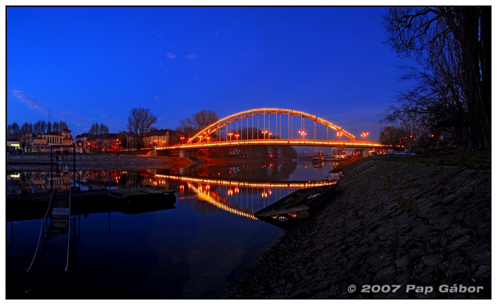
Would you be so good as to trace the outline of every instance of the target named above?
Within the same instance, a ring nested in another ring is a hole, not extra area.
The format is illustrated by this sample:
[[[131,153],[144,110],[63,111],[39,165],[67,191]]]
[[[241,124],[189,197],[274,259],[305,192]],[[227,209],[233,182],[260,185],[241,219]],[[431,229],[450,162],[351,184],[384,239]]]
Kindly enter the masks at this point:
[[[369,160],[338,188],[226,297],[491,298],[490,171]]]

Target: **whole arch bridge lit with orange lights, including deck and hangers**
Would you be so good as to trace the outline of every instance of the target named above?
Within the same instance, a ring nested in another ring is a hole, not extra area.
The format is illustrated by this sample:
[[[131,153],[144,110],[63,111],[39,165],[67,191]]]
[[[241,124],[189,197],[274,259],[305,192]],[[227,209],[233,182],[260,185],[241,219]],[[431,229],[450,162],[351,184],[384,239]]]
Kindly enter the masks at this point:
[[[348,140],[342,140],[347,138]],[[382,148],[379,142],[359,141],[343,128],[315,115],[280,108],[260,108],[227,116],[177,145],[156,150],[184,150],[248,145],[334,146]]]

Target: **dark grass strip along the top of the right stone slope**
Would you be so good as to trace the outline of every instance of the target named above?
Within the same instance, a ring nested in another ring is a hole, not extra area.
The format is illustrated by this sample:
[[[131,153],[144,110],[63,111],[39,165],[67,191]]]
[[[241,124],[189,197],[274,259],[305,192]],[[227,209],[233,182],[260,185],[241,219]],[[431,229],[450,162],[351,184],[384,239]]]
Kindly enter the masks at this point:
[[[475,151],[470,153],[447,154],[447,155],[411,155],[399,158],[382,158],[375,156],[375,159],[405,163],[424,163],[441,166],[468,167],[474,169],[491,169],[491,152]]]

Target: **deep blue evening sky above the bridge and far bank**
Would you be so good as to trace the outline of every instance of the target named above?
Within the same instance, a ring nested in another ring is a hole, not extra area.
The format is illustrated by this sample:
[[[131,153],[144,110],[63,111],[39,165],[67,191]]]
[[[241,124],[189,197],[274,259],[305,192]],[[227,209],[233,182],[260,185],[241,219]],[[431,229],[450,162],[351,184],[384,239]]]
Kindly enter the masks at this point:
[[[305,111],[377,140],[403,61],[385,7],[8,7],[7,124],[157,128],[201,109]]]

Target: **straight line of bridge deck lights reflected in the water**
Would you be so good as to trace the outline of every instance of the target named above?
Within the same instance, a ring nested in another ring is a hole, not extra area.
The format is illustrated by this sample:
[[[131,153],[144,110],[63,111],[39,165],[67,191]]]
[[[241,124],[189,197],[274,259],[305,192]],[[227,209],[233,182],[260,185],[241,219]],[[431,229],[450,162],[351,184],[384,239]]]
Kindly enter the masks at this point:
[[[208,183],[215,185],[227,185],[236,187],[290,187],[290,188],[304,188],[304,187],[314,187],[314,186],[324,186],[336,184],[336,180],[316,180],[316,181],[294,181],[294,182],[248,182],[248,181],[236,181],[236,180],[223,180],[223,179],[212,179],[212,178],[194,178],[187,176],[177,176],[177,175],[163,175],[156,174],[158,178],[166,178],[171,180],[179,180],[184,182],[197,182],[197,183]]]

